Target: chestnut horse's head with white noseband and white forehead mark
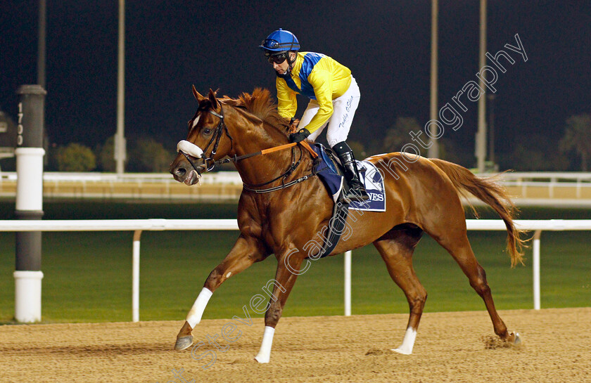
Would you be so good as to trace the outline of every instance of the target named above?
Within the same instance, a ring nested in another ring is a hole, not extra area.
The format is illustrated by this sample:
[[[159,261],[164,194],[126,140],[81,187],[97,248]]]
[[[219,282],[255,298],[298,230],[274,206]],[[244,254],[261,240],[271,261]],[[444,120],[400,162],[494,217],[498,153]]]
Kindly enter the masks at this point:
[[[215,92],[210,89],[208,96],[204,97],[193,86],[193,96],[199,106],[189,120],[186,140],[177,144],[179,154],[169,168],[174,179],[189,186],[197,183],[204,171],[214,167],[215,160],[229,154],[232,149],[224,122],[224,109]]]

